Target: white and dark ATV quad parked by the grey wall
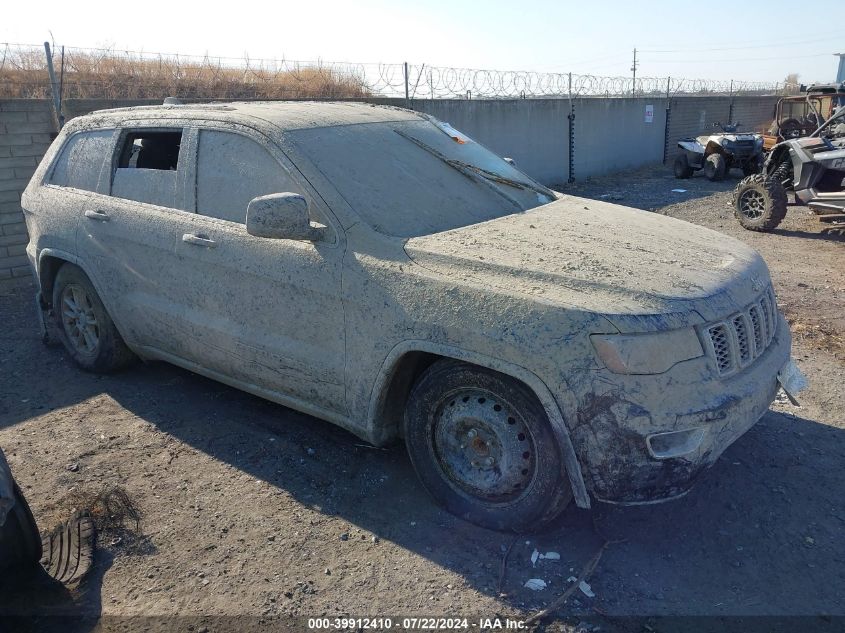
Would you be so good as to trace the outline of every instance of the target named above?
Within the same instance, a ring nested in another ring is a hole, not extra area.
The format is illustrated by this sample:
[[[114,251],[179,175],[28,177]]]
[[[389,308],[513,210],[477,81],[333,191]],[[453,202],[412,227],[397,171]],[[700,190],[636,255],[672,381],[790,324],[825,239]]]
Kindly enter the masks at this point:
[[[682,138],[678,147],[683,150],[675,159],[675,178],[690,178],[698,169],[710,180],[722,180],[734,167],[746,176],[760,171],[763,164],[763,136],[738,132],[740,123],[722,125],[722,131],[696,138]]]

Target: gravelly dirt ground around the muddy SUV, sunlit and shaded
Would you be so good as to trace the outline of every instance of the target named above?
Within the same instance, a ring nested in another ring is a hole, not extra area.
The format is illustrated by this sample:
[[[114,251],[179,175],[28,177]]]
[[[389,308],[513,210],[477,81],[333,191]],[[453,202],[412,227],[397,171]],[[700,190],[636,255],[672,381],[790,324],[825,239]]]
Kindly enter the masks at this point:
[[[682,182],[658,167],[566,191],[758,249],[810,381],[802,407],[775,403],[679,501],[572,507],[516,539],[436,507],[401,446],[374,449],[161,363],[82,373],[39,341],[34,288],[4,291],[0,446],[42,529],[109,485],[129,492],[142,520],[100,535],[80,588],[21,585],[0,595],[0,613],[82,614],[84,630],[307,626],[292,615],[462,616],[479,630],[480,618],[525,619],[552,603],[610,540],[588,581],[595,597],[576,591],[540,628],[780,630],[787,616],[810,616],[791,630],[842,630],[845,242],[801,208],[774,233],[744,231],[727,206],[737,179]],[[532,566],[535,549],[560,560]],[[547,587],[525,588],[531,578]]]

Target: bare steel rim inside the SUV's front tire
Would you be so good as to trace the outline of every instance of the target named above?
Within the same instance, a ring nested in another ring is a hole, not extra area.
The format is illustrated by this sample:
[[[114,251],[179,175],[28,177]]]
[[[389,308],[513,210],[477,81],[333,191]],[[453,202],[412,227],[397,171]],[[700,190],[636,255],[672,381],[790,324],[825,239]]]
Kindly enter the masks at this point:
[[[509,403],[481,389],[452,392],[436,408],[433,431],[438,465],[456,490],[489,503],[525,494],[536,470],[534,439]]]

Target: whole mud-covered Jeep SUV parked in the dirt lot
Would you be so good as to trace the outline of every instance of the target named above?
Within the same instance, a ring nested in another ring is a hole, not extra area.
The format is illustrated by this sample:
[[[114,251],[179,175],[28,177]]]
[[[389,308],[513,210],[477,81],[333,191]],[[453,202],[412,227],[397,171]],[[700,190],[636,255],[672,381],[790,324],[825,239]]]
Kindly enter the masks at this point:
[[[493,528],[684,494],[793,375],[754,250],[560,196],[397,108],[97,112],[22,204],[83,369],[164,360],[403,437],[433,496]]]

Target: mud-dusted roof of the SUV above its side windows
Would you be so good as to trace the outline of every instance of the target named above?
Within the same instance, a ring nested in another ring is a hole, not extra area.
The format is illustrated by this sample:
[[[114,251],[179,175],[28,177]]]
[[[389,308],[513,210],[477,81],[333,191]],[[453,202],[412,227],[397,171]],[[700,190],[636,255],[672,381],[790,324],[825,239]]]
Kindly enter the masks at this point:
[[[271,123],[283,131],[292,131],[359,123],[417,120],[420,115],[411,110],[395,106],[349,101],[234,101],[114,108],[97,110],[79,118],[91,117],[107,118],[110,121],[144,118],[190,118],[232,122],[257,118]]]

